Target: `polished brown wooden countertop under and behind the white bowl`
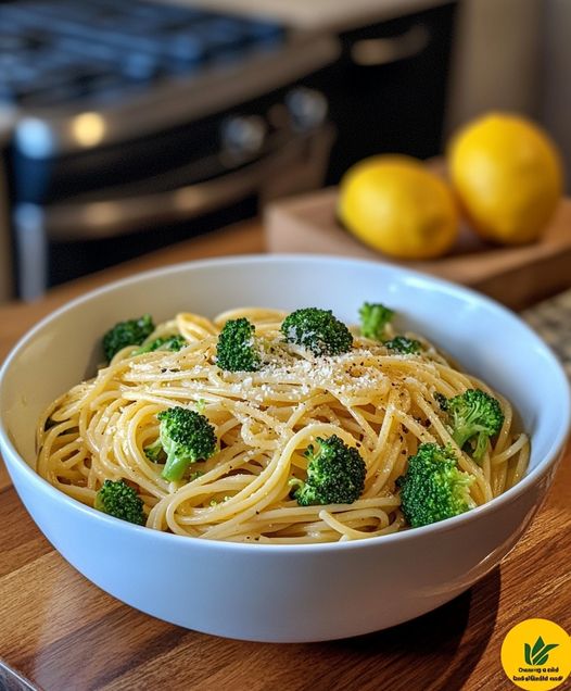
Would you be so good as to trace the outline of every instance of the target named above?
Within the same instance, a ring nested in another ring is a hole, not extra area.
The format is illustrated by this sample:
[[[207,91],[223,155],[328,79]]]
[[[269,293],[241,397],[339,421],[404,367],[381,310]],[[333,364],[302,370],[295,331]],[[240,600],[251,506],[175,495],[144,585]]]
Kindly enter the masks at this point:
[[[243,224],[58,288],[34,304],[0,306],[0,360],[38,318],[97,285],[174,262],[263,250],[259,225]],[[0,658],[46,691],[512,689],[499,664],[510,627],[541,617],[571,630],[570,461],[568,453],[523,539],[469,592],[386,631],[282,645],[189,631],[105,594],[51,548],[0,464]]]

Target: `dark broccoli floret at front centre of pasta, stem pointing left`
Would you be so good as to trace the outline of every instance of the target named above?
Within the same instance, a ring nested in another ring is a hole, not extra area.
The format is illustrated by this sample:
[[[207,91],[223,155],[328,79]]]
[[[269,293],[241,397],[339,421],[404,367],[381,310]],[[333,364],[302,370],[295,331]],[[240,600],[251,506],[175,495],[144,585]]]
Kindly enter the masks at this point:
[[[352,504],[363,493],[367,468],[359,452],[347,447],[337,435],[316,439],[317,448],[307,447],[307,480],[292,478],[293,497],[301,506],[314,504]]]

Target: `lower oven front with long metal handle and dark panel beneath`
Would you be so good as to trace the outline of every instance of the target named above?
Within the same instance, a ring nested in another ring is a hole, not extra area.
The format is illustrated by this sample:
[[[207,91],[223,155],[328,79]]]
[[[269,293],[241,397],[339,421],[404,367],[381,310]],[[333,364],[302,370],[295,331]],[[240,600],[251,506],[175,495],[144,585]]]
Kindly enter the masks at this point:
[[[314,189],[325,178],[332,140],[327,123],[289,128],[267,138],[255,156],[230,148],[104,194],[20,203],[13,214],[18,297],[31,300],[50,286],[253,216],[268,200]]]

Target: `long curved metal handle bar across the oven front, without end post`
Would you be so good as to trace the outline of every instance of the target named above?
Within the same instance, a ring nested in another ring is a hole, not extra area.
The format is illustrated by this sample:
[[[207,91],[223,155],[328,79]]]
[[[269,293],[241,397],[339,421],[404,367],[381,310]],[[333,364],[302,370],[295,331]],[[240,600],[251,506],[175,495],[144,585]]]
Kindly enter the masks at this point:
[[[291,145],[219,178],[123,199],[62,203],[43,209],[43,228],[50,240],[78,241],[113,238],[156,229],[157,224],[189,221],[231,204],[259,190],[264,180],[295,158]],[[29,210],[21,205],[20,214]],[[37,212],[36,208],[36,212]],[[20,215],[18,214],[18,215]]]

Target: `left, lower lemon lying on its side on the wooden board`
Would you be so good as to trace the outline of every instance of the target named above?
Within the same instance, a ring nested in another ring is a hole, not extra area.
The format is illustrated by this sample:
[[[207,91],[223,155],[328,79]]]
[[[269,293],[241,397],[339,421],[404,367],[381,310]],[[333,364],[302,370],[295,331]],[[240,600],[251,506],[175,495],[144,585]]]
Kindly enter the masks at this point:
[[[444,254],[458,228],[446,184],[404,155],[372,156],[350,168],[341,180],[338,212],[363,242],[398,259]]]

